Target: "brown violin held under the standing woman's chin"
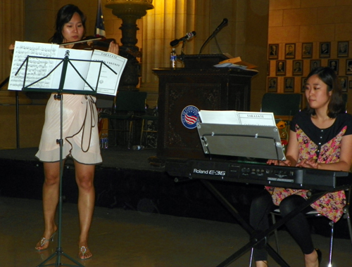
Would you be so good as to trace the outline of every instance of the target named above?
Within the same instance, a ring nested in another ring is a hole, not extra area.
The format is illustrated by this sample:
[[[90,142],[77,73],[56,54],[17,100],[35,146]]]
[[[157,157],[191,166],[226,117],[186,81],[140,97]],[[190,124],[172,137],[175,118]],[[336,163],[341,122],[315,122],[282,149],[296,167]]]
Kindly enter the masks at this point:
[[[105,37],[84,37],[81,41],[73,41],[70,43],[65,43],[61,44],[63,46],[67,46],[69,44],[73,44],[73,49],[84,49],[84,50],[94,50],[98,49],[101,51],[108,51],[109,44],[111,41],[115,41],[115,39],[106,39]],[[127,48],[125,46],[120,46],[119,47],[121,51],[125,51],[126,53],[129,53],[130,55],[136,57],[136,58],[141,58],[142,53],[140,51],[132,51],[132,49]]]

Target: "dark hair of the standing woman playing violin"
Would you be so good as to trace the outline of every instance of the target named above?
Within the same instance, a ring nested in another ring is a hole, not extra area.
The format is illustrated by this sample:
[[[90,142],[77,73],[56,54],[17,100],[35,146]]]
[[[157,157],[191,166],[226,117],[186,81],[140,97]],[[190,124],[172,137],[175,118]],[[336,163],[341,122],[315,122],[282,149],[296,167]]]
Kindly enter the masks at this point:
[[[53,37],[49,39],[49,42],[54,44],[61,44],[63,42],[63,34],[62,34],[63,25],[65,25],[65,23],[67,22],[70,22],[71,18],[73,17],[73,14],[75,13],[80,15],[82,20],[82,25],[85,30],[86,16],[80,10],[80,8],[78,8],[78,6],[75,6],[73,4],[68,4],[60,8],[60,10],[58,11],[58,14],[56,15],[55,33]]]

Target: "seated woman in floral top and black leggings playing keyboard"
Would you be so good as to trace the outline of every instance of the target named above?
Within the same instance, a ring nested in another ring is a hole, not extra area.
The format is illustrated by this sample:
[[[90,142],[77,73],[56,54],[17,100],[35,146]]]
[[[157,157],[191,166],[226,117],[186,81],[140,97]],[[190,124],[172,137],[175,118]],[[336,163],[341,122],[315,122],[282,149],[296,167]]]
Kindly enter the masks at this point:
[[[352,116],[346,114],[345,103],[337,74],[329,67],[318,67],[310,72],[306,82],[308,107],[291,121],[289,144],[284,161],[268,160],[268,164],[350,171],[352,160]],[[262,195],[251,204],[250,222],[255,230],[269,227],[268,215],[279,209],[286,216],[306,201],[307,190],[265,187]],[[310,205],[330,220],[339,221],[346,204],[344,191],[327,193]],[[307,210],[287,222],[304,255],[306,267],[319,266],[321,252],[313,246]],[[268,266],[267,252],[254,249],[256,266]]]

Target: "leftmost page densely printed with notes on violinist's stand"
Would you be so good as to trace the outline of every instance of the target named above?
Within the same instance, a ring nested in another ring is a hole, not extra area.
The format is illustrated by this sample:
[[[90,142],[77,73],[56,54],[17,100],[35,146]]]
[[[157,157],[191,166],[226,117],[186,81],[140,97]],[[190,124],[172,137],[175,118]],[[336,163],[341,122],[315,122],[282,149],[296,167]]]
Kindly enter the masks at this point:
[[[29,41],[15,41],[15,51],[13,53],[13,62],[11,66],[10,81],[8,83],[8,90],[20,91],[23,89],[23,80],[25,78],[25,66],[23,66],[18,72],[20,66],[27,56],[39,56],[39,57],[55,57],[58,52],[57,44],[42,44],[33,43]],[[44,77],[48,74],[55,63],[45,58],[30,58],[30,65],[33,67],[27,70],[27,77],[25,86],[32,84],[32,82]],[[48,88],[51,86],[51,82],[54,79],[53,75],[49,75],[47,79],[35,84],[38,88]]]

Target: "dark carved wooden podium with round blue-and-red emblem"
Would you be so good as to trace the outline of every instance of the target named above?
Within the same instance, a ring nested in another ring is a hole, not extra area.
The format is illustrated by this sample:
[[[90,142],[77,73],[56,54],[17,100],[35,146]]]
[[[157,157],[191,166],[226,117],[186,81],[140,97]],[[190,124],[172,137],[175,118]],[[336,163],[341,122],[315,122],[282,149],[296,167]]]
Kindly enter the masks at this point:
[[[251,79],[258,72],[234,68],[160,68],[157,157],[205,159],[196,128],[184,126],[185,110],[249,110]],[[192,119],[192,117],[187,118]]]

